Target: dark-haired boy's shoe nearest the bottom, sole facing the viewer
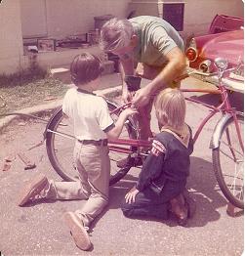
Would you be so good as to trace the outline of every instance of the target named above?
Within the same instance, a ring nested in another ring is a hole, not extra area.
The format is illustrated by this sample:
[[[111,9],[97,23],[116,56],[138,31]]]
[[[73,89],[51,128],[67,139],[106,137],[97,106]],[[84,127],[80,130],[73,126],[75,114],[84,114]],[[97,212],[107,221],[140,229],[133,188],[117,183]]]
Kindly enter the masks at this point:
[[[74,242],[78,248],[87,251],[91,248],[92,243],[90,237],[83,226],[83,222],[73,212],[65,212],[63,219],[70,230]]]

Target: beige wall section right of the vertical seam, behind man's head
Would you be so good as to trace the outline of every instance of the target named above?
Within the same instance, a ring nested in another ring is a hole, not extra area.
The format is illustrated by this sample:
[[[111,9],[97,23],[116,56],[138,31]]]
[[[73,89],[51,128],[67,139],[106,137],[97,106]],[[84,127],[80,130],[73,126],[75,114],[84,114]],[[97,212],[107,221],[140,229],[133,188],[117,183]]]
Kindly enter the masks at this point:
[[[49,0],[48,34],[63,36],[86,33],[95,28],[94,17],[107,14],[126,18],[130,0]]]

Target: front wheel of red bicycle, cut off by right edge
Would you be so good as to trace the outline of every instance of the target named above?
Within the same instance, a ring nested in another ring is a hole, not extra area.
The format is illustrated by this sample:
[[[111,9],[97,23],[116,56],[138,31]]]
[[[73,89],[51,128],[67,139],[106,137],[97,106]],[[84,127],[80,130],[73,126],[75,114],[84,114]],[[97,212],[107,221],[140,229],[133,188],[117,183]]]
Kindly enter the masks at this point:
[[[238,124],[244,142],[244,117],[237,113]],[[225,197],[234,206],[244,208],[244,150],[239,144],[233,117],[225,123],[220,145],[213,149],[213,165],[218,184]]]

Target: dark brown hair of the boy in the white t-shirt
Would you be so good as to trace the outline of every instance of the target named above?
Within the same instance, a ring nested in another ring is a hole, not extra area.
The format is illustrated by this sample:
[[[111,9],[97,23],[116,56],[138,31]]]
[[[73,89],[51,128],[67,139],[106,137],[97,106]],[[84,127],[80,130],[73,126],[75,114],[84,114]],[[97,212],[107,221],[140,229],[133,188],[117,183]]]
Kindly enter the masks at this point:
[[[98,57],[89,53],[75,56],[70,64],[71,81],[75,84],[86,84],[99,77],[102,63]]]

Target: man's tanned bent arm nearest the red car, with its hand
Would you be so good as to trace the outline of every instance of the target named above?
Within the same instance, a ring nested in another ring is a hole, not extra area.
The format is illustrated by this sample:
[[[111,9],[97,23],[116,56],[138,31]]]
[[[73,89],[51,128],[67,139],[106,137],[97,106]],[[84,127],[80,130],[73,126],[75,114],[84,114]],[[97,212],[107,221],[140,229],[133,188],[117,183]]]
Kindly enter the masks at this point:
[[[155,96],[158,91],[169,87],[169,85],[184,72],[186,59],[181,49],[175,47],[168,52],[165,57],[168,64],[164,66],[150,83],[136,93],[133,99],[133,103],[136,107],[146,105],[151,96]]]

